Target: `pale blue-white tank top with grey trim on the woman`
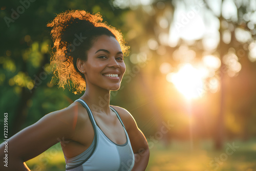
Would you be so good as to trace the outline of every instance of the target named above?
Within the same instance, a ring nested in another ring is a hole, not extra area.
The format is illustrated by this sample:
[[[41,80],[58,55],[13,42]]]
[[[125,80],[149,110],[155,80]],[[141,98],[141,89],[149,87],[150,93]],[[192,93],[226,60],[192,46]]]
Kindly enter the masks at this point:
[[[98,127],[93,117],[92,111],[82,99],[75,100],[80,102],[86,108],[89,118],[94,129],[94,139],[86,151],[78,156],[67,158],[67,171],[84,171],[84,170],[104,170],[104,171],[126,171],[131,170],[134,166],[134,154],[129,136],[125,130],[123,122],[114,108],[114,111],[123,126],[126,136],[124,144],[116,144],[111,141]]]

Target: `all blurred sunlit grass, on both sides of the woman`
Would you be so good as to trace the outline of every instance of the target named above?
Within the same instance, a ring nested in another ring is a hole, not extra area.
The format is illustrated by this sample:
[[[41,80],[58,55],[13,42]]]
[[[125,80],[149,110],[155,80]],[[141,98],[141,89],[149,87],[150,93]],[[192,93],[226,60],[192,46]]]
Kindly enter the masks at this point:
[[[229,144],[229,145],[228,145]],[[230,148],[232,146],[233,148]],[[147,171],[254,171],[256,170],[256,140],[227,142],[221,151],[215,151],[211,141],[191,144],[172,141],[169,145],[151,143]],[[231,154],[232,153],[232,154]],[[34,171],[65,170],[65,159],[60,145],[26,162]]]

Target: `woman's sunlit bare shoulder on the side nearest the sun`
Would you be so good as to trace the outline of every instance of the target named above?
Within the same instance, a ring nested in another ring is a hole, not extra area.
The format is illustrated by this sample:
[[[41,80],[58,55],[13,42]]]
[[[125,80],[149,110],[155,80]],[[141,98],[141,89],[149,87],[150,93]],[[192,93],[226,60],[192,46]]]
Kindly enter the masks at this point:
[[[133,116],[129,111],[127,111],[124,108],[121,108],[119,106],[111,105],[119,114],[120,118],[122,119],[122,122],[125,126],[126,130],[129,130],[130,127],[136,126],[136,121],[134,120]]]

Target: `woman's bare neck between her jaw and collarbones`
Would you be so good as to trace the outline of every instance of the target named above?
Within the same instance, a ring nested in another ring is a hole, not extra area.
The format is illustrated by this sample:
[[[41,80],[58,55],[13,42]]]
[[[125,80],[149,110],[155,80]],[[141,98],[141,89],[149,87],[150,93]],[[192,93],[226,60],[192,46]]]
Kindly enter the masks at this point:
[[[110,114],[110,90],[86,88],[86,92],[80,97],[86,101],[92,111]]]

